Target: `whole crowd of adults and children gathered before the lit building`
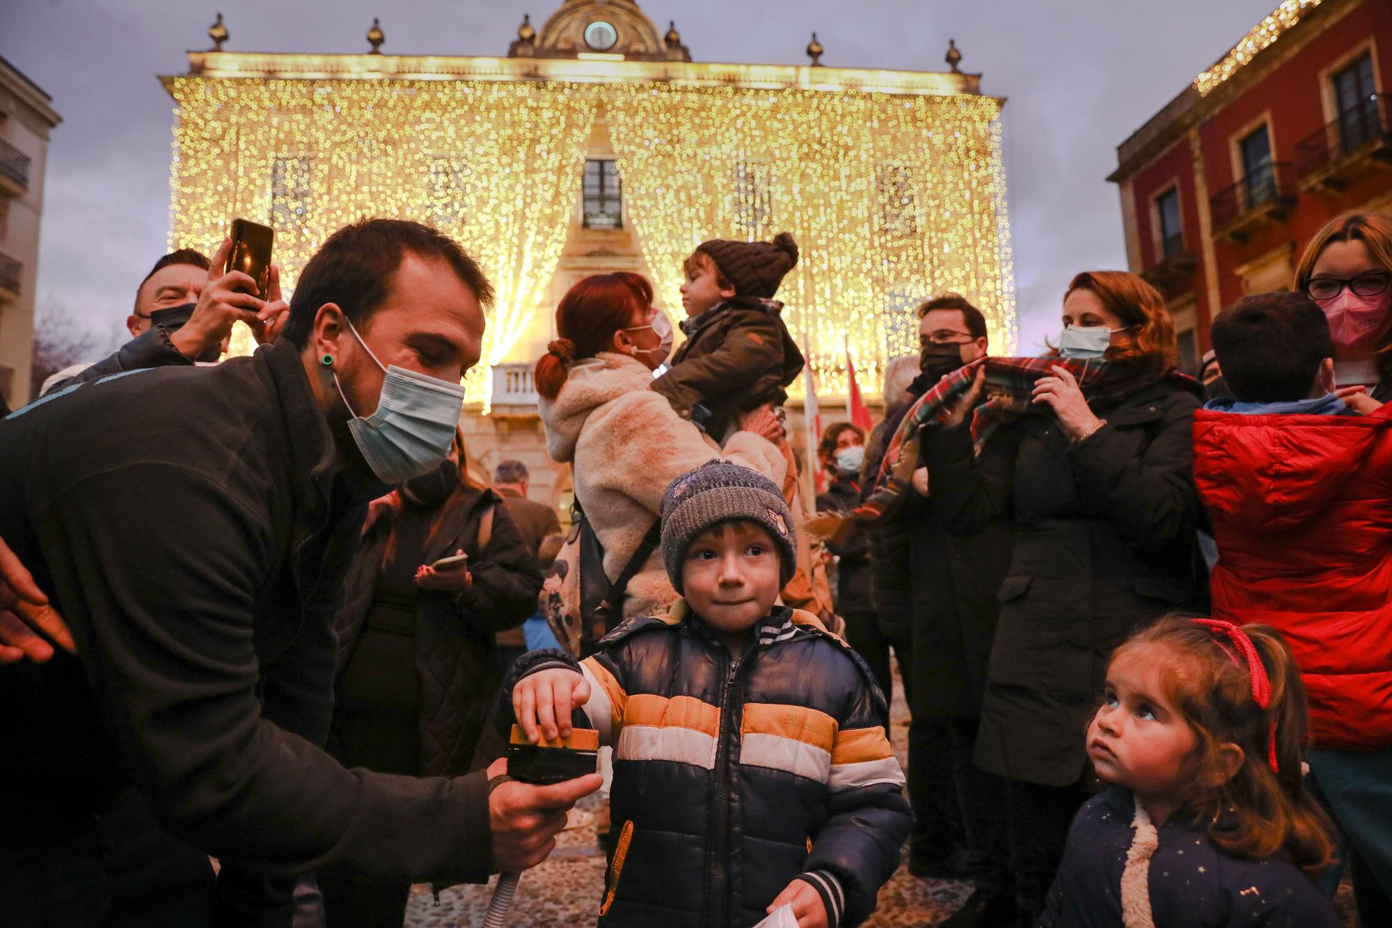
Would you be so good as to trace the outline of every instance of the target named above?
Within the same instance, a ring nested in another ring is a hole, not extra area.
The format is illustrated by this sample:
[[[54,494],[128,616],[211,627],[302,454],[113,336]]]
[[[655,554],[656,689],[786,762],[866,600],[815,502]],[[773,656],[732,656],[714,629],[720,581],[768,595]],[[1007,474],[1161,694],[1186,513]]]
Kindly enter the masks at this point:
[[[505,755],[579,729],[603,924],[860,924],[905,842],[958,928],[1336,925],[1346,871],[1392,924],[1392,217],[1218,314],[1197,379],[1130,273],[1038,358],[938,294],[816,499],[791,235],[685,256],[677,325],[587,277],[535,371],[567,529],[469,457],[454,241],[344,227],[288,305],[227,251],[0,422],[14,924],[400,925],[548,856],[604,780]]]

